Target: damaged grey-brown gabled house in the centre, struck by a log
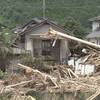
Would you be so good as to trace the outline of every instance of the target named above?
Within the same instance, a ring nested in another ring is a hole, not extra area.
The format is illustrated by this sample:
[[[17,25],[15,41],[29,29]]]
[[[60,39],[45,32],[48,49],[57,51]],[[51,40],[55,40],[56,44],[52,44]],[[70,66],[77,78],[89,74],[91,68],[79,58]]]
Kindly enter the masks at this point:
[[[68,48],[68,40],[62,37],[50,37],[49,29],[70,34],[68,30],[64,30],[61,26],[53,21],[43,18],[33,18],[22,27],[15,28],[13,31],[17,37],[13,41],[14,54],[22,52],[31,52],[33,57],[43,57],[46,61],[55,61],[63,63],[68,59],[70,50]],[[55,45],[53,46],[53,43]]]

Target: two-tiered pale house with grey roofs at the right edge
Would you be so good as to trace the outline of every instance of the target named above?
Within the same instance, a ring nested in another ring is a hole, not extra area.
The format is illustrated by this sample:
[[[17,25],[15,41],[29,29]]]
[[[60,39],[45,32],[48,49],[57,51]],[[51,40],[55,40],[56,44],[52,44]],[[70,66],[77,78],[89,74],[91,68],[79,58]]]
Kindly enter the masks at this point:
[[[92,31],[86,36],[87,40],[100,45],[100,16],[89,19]]]

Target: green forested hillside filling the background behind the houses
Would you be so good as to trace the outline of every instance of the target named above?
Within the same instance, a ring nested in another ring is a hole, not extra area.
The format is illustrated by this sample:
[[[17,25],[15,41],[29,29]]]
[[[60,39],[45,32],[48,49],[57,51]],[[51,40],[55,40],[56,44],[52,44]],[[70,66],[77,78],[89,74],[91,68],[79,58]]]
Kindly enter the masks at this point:
[[[73,17],[88,26],[88,19],[100,14],[100,0],[46,0],[46,16],[63,25]],[[9,27],[42,17],[42,0],[0,0],[0,23]]]

